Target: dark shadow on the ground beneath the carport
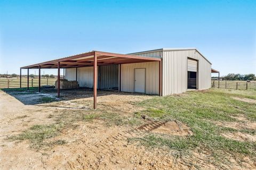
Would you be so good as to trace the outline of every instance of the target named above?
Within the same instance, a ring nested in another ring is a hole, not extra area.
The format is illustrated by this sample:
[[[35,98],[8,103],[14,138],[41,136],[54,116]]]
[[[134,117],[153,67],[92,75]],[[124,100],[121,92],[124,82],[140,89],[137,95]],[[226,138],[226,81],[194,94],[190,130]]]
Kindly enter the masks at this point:
[[[93,89],[90,88],[78,88],[78,89],[65,89],[60,91],[60,98],[57,97],[57,89],[53,87],[41,87],[41,92],[38,92],[38,88],[12,88],[1,89],[6,94],[13,96],[25,105],[37,105],[47,107],[61,107],[61,108],[74,108],[74,109],[88,109],[86,107],[70,107],[69,105],[60,106],[55,104],[55,101],[67,101],[74,99],[89,99],[93,102]],[[113,90],[97,90],[97,96],[108,95],[143,95],[133,94],[129,92],[113,91]],[[91,99],[90,99],[91,98]],[[53,105],[54,103],[54,105]],[[43,105],[42,105],[43,104]],[[46,105],[47,104],[47,105]]]

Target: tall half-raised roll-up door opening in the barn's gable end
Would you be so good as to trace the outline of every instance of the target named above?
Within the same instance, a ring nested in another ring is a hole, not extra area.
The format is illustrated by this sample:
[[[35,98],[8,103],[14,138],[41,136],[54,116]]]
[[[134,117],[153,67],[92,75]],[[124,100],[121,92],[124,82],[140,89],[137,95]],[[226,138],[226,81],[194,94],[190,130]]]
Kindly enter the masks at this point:
[[[197,89],[197,60],[188,58],[188,89]]]

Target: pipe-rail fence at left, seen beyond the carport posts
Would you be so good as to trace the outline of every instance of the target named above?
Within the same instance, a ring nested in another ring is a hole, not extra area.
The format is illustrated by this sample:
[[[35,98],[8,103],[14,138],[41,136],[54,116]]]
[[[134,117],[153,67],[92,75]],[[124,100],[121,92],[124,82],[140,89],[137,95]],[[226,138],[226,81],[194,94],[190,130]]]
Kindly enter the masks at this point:
[[[57,78],[41,78],[41,86],[54,86]],[[21,87],[38,87],[39,79],[38,78],[21,78]],[[19,88],[20,79],[0,79],[0,89],[4,88]]]

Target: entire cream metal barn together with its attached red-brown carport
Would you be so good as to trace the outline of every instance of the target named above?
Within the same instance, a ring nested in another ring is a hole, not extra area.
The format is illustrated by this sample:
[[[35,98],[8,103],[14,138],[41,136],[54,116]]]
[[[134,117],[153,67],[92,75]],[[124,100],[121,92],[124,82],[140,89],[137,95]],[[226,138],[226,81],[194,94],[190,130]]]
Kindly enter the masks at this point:
[[[67,80],[77,81],[79,87],[93,88],[94,108],[97,89],[166,96],[211,87],[211,63],[195,48],[162,48],[132,54],[92,51],[24,66],[20,73],[27,69],[29,81],[29,69],[37,68],[39,92],[40,70],[58,69],[59,97],[60,69],[64,69]]]

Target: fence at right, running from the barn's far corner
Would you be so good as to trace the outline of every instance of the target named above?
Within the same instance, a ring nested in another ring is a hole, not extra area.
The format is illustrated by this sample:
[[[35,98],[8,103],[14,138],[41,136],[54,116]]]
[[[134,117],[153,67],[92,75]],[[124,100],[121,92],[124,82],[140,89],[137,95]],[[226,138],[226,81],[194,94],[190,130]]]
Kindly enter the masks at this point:
[[[221,89],[256,90],[256,82],[212,80],[212,87]]]

